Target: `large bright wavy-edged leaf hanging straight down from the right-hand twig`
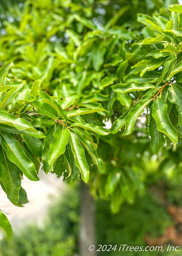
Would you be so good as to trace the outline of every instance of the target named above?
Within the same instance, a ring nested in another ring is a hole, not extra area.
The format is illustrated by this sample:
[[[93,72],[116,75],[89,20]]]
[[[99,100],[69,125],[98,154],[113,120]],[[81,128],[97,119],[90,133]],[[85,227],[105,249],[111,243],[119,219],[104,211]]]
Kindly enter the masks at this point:
[[[163,99],[157,97],[157,99],[154,100],[152,116],[157,123],[158,131],[163,132],[169,137],[175,146],[178,141],[178,133],[169,120],[167,115],[167,104]]]

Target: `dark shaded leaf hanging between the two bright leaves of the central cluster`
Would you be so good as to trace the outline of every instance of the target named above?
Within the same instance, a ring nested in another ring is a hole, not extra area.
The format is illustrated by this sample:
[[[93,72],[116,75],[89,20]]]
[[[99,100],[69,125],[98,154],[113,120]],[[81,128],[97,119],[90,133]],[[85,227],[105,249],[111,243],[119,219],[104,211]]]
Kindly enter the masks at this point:
[[[68,163],[68,169],[69,169],[68,177],[70,177],[70,175],[71,175],[71,178],[73,180],[76,180],[76,178],[78,177],[78,175],[80,173],[80,170],[75,165],[75,158],[74,158],[74,155],[72,153],[71,144],[70,143],[68,143],[66,145],[66,150],[64,152],[64,157],[66,158],[66,161]]]

